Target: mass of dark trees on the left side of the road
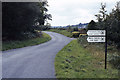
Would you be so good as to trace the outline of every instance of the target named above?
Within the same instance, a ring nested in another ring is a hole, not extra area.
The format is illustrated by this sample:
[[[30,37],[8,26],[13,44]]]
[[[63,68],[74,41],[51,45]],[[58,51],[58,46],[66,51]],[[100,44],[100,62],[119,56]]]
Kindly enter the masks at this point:
[[[48,2],[3,2],[2,38],[4,40],[23,40],[37,37],[36,29],[51,20]]]

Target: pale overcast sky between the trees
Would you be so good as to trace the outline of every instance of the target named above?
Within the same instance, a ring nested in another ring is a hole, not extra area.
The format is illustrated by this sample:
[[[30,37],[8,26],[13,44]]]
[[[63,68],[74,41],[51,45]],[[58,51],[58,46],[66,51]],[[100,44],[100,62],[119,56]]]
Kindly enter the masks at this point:
[[[106,3],[108,12],[120,0],[48,0],[49,12],[52,14],[52,26],[66,26],[88,23],[96,20],[94,16],[99,12],[101,2]]]

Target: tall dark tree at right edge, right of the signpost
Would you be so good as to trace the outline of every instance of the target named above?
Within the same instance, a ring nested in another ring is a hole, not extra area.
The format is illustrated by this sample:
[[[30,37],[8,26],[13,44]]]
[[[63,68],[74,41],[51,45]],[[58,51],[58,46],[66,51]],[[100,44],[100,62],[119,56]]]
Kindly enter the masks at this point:
[[[109,40],[120,47],[120,2],[117,2],[116,8],[107,17],[107,30]]]

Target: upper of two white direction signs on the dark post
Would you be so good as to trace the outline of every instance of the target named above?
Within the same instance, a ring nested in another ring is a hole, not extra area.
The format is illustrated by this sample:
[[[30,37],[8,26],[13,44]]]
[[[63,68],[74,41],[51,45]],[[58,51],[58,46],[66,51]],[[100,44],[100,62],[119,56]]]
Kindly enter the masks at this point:
[[[105,30],[88,30],[88,36],[105,36]]]

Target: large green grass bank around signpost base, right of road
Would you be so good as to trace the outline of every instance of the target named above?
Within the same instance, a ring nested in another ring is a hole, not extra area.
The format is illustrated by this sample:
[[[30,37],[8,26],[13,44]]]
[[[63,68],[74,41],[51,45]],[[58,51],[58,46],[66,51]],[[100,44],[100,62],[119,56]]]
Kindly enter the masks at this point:
[[[93,47],[78,44],[78,40],[71,41],[55,58],[55,72],[57,78],[117,78],[118,70],[111,67],[104,69],[104,56],[99,54],[104,50],[99,48],[94,54]],[[99,58],[100,57],[100,58]]]

